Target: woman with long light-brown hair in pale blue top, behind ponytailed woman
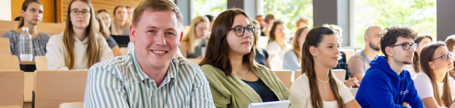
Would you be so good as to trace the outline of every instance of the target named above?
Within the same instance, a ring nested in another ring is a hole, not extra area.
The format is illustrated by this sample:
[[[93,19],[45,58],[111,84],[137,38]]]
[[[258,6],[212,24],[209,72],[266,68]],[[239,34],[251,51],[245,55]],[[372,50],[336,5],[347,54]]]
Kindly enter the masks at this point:
[[[294,39],[292,41],[292,50],[289,50],[284,54],[283,69],[296,70],[301,69],[300,64],[302,60],[302,47],[305,43],[305,37],[307,37],[308,26],[303,26],[295,32]],[[296,76],[298,77],[298,76]]]

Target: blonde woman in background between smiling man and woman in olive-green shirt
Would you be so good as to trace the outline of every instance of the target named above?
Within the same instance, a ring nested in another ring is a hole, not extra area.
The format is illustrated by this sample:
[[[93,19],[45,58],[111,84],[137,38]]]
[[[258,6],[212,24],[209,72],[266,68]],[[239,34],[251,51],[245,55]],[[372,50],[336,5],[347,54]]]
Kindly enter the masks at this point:
[[[185,58],[201,58],[210,22],[205,16],[197,16],[191,21],[188,34],[182,40],[180,51]]]

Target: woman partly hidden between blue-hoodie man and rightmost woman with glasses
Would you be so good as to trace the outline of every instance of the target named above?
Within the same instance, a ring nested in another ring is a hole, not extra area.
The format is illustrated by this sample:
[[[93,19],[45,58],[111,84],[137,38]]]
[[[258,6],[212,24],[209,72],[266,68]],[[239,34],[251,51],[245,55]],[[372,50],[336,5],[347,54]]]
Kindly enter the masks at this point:
[[[415,44],[419,44],[417,46],[417,49],[414,52],[414,58],[412,58],[412,64],[406,64],[404,65],[404,70],[408,70],[409,74],[411,74],[411,78],[414,79],[417,74],[422,72],[420,69],[420,64],[419,64],[419,55],[420,51],[425,47],[426,44],[430,44],[433,42],[433,39],[429,35],[420,35],[417,39],[414,40]]]

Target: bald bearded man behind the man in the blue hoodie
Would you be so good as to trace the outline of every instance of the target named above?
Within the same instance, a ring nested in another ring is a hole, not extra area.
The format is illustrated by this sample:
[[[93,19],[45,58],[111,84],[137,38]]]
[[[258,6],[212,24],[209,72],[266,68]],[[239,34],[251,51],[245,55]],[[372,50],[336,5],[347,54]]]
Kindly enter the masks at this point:
[[[365,31],[365,49],[352,54],[348,60],[348,69],[352,78],[362,81],[365,72],[370,68],[369,62],[376,59],[378,51],[381,50],[379,41],[382,33],[383,28],[380,25],[371,25]]]

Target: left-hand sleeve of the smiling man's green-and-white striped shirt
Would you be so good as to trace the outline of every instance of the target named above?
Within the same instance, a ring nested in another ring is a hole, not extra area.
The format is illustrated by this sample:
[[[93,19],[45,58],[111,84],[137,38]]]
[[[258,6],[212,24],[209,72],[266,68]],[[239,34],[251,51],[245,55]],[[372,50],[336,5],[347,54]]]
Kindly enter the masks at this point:
[[[109,73],[114,70],[101,63],[88,70],[84,108],[129,108],[122,82]]]

